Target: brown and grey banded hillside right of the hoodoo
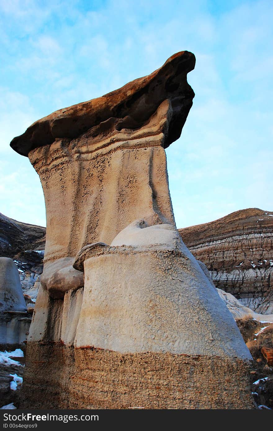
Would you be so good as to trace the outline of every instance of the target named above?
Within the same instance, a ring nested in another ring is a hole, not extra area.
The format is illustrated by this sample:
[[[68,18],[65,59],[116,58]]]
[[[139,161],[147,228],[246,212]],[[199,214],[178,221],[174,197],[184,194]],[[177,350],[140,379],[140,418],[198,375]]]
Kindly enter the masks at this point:
[[[179,229],[215,286],[258,313],[273,314],[273,213],[258,208]]]

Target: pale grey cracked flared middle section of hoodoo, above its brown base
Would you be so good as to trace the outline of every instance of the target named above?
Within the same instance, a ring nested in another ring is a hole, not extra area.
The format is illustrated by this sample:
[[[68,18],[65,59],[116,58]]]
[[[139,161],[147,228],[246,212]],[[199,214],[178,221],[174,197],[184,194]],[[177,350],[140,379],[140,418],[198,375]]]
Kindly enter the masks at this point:
[[[121,243],[135,247],[105,247],[96,254],[90,246],[95,255],[84,261],[74,345],[251,359],[230,312],[178,232],[160,226],[124,229]],[[141,247],[138,237],[155,240],[156,231],[159,237],[173,234],[173,243]]]

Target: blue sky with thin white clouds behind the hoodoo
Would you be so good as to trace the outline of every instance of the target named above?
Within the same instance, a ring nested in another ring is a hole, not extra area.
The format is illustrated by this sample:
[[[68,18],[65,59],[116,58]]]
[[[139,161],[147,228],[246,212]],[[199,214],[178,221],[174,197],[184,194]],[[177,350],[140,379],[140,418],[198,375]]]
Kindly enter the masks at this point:
[[[0,212],[45,225],[40,180],[14,136],[189,50],[196,94],[167,150],[178,228],[272,211],[273,2],[0,0]]]

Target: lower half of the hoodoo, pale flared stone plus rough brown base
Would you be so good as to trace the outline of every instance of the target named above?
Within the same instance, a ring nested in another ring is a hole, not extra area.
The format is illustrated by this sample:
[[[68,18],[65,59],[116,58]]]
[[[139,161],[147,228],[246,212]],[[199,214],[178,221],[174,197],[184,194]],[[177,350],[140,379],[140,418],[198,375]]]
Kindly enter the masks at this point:
[[[24,380],[29,403],[43,407],[37,397],[43,390],[48,408],[252,406],[248,349],[172,225],[133,222],[110,246],[80,250],[74,267],[84,270],[84,290],[67,292],[63,305],[55,300],[63,306],[60,327],[50,305],[49,320],[35,323],[48,309],[48,297],[39,293]],[[65,347],[48,337],[60,337]],[[43,386],[33,387],[41,354]],[[56,359],[61,390],[49,379]]]

